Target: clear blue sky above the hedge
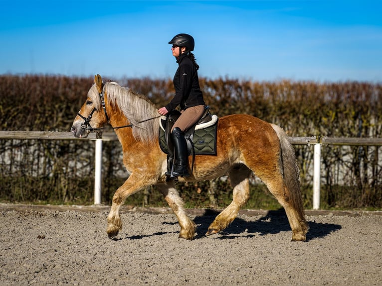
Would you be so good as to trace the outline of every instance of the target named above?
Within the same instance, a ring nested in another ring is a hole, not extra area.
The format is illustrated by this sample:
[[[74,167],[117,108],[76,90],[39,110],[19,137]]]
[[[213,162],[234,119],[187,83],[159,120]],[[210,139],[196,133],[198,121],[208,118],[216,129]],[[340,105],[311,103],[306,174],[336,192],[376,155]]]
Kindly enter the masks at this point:
[[[189,33],[199,76],[382,82],[379,0],[0,3],[0,74],[172,78]]]

